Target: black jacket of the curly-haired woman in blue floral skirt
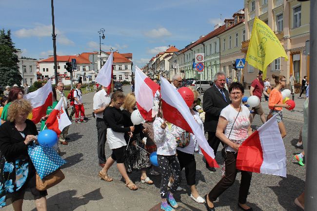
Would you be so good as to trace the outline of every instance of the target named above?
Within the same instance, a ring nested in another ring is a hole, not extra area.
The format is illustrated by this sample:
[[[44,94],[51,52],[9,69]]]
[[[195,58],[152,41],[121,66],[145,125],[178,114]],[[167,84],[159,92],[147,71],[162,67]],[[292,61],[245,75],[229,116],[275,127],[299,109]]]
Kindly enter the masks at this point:
[[[26,127],[23,131],[25,137],[38,134],[36,125],[31,120],[26,119],[25,123]],[[0,126],[0,152],[4,155],[7,162],[25,159],[29,156],[27,145],[24,143],[25,137],[23,138],[16,129],[14,122],[6,121]]]

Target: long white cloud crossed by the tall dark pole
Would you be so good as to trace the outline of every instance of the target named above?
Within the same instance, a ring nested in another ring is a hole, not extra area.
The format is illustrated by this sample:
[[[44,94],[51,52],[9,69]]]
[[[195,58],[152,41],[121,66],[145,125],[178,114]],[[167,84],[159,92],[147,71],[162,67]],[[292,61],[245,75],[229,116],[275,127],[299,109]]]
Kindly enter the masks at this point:
[[[55,34],[57,34],[56,40],[61,45],[75,45],[75,43],[67,38],[63,32],[55,28]],[[52,36],[52,25],[36,24],[34,28],[31,29],[20,29],[14,32],[14,35],[18,38],[30,38],[30,37],[51,37]]]

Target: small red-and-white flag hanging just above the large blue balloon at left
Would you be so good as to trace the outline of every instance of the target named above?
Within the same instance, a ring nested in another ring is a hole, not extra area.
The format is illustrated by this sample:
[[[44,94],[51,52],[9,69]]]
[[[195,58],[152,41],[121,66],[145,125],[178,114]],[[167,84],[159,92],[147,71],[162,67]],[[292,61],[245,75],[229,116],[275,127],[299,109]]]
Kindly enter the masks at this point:
[[[60,98],[45,122],[46,127],[55,131],[58,135],[66,126],[72,124],[65,112],[63,101],[64,99]]]

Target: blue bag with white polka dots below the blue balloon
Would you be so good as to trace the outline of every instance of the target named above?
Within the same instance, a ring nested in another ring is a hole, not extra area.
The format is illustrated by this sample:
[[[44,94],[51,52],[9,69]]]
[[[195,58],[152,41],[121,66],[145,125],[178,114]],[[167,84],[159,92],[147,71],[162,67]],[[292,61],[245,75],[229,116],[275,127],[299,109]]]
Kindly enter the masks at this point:
[[[28,146],[28,153],[40,178],[54,173],[66,163],[59,154],[50,147],[33,144]]]

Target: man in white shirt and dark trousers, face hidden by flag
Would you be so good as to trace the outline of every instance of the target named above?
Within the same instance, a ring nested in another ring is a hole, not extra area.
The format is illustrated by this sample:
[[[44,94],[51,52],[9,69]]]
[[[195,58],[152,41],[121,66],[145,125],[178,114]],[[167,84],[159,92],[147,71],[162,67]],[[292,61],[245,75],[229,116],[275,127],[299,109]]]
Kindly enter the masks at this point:
[[[99,166],[102,168],[106,163],[104,145],[106,143],[107,137],[107,126],[103,120],[103,111],[109,106],[110,101],[110,96],[107,94],[107,87],[102,86],[101,90],[94,95],[93,110],[96,115],[96,127],[98,135],[97,152]]]

